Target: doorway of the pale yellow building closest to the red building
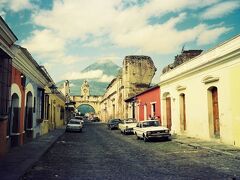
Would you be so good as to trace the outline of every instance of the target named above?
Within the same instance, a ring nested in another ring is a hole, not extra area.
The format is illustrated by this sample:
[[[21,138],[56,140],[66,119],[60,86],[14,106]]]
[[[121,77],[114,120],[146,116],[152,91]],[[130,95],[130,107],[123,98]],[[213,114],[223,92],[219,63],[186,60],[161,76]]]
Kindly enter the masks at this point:
[[[163,125],[171,130],[172,127],[172,109],[171,109],[171,94],[169,92],[164,92],[162,96],[162,116]]]

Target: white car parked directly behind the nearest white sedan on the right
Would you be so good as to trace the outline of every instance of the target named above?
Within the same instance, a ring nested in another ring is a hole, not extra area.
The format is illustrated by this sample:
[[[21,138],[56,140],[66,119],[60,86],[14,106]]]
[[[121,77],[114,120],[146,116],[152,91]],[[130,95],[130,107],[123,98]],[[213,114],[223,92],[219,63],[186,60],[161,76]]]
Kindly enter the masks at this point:
[[[121,133],[128,134],[133,133],[133,128],[136,127],[137,122],[136,119],[128,118],[123,119],[118,125],[118,128],[120,129]]]

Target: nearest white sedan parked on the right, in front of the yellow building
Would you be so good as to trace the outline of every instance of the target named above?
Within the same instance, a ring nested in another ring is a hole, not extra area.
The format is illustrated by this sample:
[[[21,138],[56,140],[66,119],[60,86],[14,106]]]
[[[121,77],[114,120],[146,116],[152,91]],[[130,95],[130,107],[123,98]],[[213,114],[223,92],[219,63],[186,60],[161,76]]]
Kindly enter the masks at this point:
[[[160,126],[157,120],[146,120],[137,123],[134,128],[137,139],[142,138],[145,142],[150,139],[170,139],[171,134],[168,128]]]

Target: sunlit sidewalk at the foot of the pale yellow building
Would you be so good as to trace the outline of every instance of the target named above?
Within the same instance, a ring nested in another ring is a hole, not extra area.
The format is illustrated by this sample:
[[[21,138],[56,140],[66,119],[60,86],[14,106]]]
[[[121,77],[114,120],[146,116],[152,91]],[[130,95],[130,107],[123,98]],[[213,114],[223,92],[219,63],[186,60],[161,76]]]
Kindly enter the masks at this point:
[[[183,135],[174,135],[173,141],[186,144],[194,148],[207,149],[216,153],[232,156],[240,160],[240,148],[232,145],[226,145],[217,141],[206,141],[197,138],[191,138]]]

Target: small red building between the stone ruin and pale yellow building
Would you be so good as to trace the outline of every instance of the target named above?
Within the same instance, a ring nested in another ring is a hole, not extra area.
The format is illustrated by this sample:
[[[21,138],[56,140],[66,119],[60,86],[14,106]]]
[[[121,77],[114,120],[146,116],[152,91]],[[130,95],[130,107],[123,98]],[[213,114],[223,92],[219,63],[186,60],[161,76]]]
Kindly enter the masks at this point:
[[[158,85],[127,99],[126,102],[134,107],[131,117],[138,121],[158,119],[161,123],[160,87]]]

